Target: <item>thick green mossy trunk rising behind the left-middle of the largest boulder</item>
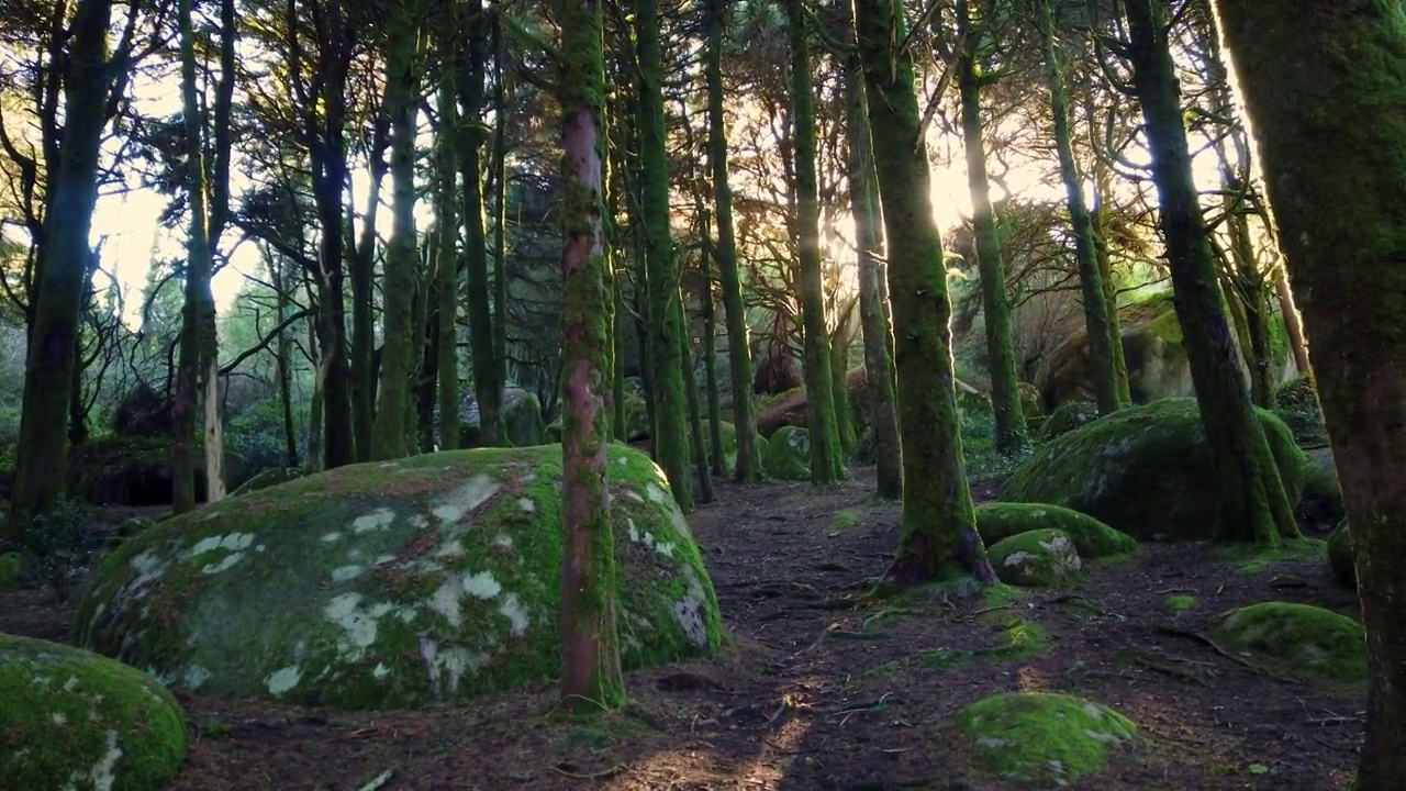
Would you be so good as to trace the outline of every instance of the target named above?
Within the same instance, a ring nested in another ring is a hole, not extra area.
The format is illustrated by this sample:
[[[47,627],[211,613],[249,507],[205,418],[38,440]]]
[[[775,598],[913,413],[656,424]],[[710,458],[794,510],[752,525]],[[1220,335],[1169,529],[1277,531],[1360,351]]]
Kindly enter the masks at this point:
[[[381,383],[377,387],[371,460],[406,455],[406,411],[411,373],[420,338],[415,332],[415,287],[419,253],[415,238],[415,117],[419,110],[418,24],[409,6],[396,6],[388,21],[385,61],[391,115],[391,241],[382,280],[384,311]]]

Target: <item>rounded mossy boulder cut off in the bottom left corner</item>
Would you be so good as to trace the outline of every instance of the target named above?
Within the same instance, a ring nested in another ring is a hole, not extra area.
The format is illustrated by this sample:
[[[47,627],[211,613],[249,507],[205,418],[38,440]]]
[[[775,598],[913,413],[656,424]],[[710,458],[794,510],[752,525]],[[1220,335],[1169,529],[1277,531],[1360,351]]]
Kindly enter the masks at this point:
[[[186,719],[156,680],[86,650],[0,635],[0,785],[156,791],[184,760]]]

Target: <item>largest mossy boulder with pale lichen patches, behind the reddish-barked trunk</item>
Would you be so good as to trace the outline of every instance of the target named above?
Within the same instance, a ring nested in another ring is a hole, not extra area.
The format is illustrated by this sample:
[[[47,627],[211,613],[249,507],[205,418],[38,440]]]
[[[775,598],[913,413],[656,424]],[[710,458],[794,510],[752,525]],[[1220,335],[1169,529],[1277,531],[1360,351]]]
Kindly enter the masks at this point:
[[[664,473],[609,448],[624,666],[707,654],[721,625]],[[94,574],[75,633],[218,698],[392,709],[561,663],[561,449],[354,464],[162,522]]]

